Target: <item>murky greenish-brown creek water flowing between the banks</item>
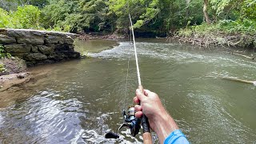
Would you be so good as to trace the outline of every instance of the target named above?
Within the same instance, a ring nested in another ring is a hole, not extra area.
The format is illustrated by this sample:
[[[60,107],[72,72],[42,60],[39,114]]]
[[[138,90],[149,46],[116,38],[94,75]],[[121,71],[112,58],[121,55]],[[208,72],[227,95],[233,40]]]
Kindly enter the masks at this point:
[[[125,129],[118,140],[104,138],[106,131],[117,131],[122,110],[133,104],[138,84],[132,45],[89,43],[77,45],[91,58],[30,69],[48,69],[50,74],[21,90],[26,98],[0,109],[0,143],[142,142],[141,134],[132,138]],[[222,79],[256,80],[254,61],[222,48],[156,40],[137,45],[142,85],[158,93],[190,142],[256,143],[256,86]]]

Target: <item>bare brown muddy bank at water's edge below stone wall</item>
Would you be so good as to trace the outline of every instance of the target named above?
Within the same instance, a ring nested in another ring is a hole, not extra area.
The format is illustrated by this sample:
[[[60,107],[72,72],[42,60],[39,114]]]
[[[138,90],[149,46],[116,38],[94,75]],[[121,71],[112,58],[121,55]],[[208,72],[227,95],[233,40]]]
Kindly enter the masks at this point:
[[[35,91],[33,87],[41,86],[46,81],[51,69],[32,70],[18,74],[0,76],[0,108],[10,106],[18,100],[28,98]]]

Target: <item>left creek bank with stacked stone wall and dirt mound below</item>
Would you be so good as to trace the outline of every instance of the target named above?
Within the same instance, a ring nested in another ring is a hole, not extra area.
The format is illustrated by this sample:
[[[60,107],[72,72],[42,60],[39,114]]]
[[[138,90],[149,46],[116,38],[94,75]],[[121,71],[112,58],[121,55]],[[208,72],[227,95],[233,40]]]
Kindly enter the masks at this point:
[[[0,59],[0,76],[5,75],[0,79],[0,92],[30,81],[33,74],[19,74],[26,71],[26,66],[81,58],[74,50],[74,38],[78,36],[46,30],[0,29],[1,53],[11,55]]]

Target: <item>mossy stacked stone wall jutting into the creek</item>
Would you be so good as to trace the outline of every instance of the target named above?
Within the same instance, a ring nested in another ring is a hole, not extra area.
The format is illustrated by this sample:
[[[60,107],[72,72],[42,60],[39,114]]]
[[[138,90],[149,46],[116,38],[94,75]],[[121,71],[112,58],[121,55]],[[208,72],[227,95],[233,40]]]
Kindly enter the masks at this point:
[[[77,34],[42,31],[0,29],[0,45],[6,52],[22,58],[27,66],[80,58],[74,51]]]

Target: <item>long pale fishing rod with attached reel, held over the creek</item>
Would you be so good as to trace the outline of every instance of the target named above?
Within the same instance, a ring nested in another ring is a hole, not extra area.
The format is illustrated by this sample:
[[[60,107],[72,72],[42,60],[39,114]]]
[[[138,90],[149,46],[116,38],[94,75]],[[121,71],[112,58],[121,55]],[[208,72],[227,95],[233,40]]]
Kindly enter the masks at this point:
[[[130,18],[130,14],[129,14],[129,18]],[[136,67],[137,67],[138,89],[141,90],[141,92],[143,93],[144,90],[143,90],[142,80],[141,80],[141,76],[140,76],[140,72],[139,72],[137,48],[136,48],[136,42],[135,42],[135,38],[134,38],[134,27],[133,27],[133,22],[131,21],[131,18],[130,18],[130,28],[131,28],[131,32],[133,35],[133,41],[134,41],[134,54],[135,54]],[[128,114],[126,114],[126,110],[123,110],[122,116],[124,118],[124,122],[123,122],[122,126],[120,126],[118,128],[118,132],[119,132],[119,130],[122,129],[122,127],[127,127],[127,128],[130,128],[130,134],[133,137],[135,137],[138,134],[138,132],[141,128],[141,125],[142,125],[143,143],[152,144],[152,137],[150,134],[150,123],[145,114],[142,115],[142,118],[136,118],[134,106],[130,106],[128,108]],[[119,134],[109,132],[105,135],[105,138],[119,138]]]

